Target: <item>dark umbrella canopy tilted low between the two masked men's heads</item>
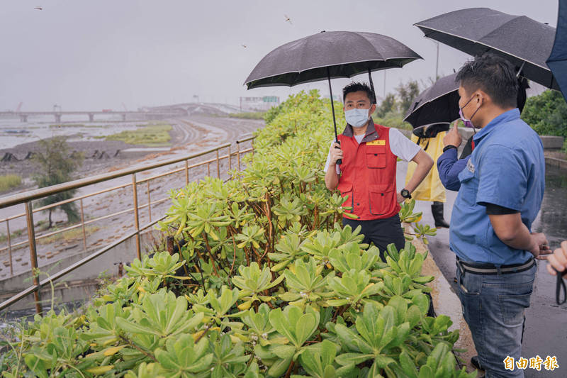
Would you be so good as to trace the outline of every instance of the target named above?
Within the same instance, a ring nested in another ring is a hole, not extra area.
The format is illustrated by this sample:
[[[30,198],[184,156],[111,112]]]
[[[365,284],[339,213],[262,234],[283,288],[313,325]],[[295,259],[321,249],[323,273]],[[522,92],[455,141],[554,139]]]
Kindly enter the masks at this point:
[[[404,121],[413,128],[447,123],[459,118],[459,84],[455,82],[455,74],[442,77],[422,91],[414,100]],[[448,130],[449,128],[447,128]]]

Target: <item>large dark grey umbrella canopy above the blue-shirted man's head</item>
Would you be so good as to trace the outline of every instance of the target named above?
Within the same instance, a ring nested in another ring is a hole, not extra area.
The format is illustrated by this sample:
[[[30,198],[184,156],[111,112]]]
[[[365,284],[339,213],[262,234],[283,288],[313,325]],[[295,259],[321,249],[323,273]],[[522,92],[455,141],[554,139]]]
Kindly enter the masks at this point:
[[[427,38],[469,55],[493,52],[521,70],[523,77],[559,89],[546,65],[555,28],[527,16],[514,16],[488,8],[461,9],[414,24]]]

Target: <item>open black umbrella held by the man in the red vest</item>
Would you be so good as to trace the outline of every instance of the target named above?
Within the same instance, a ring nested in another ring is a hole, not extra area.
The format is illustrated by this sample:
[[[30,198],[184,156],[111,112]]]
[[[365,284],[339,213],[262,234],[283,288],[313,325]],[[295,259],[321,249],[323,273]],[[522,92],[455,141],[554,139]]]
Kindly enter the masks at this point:
[[[248,89],[288,86],[327,79],[337,140],[331,79],[364,72],[403,67],[421,59],[408,46],[386,35],[352,31],[327,31],[294,40],[271,51],[254,67],[245,81]],[[376,94],[374,102],[376,102]]]

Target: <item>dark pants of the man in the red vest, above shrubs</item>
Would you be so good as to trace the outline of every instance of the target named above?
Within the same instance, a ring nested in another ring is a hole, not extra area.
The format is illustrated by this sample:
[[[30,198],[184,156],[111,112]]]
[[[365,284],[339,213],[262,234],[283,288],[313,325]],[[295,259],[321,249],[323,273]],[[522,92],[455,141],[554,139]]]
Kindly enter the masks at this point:
[[[395,244],[395,248],[401,250],[405,245],[400,216],[395,214],[390,218],[374,219],[372,221],[357,221],[356,219],[342,218],[342,226],[355,228],[361,226],[360,233],[364,235],[362,243],[374,243],[380,250],[380,258],[386,261],[385,251],[388,244]]]

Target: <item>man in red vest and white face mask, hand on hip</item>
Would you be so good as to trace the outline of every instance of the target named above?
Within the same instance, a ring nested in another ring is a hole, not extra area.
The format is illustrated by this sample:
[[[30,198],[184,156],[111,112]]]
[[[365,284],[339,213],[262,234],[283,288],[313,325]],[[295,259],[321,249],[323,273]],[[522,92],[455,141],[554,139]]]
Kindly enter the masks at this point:
[[[339,189],[346,198],[343,205],[352,207],[349,213],[354,219],[345,216],[343,225],[353,229],[361,226],[364,243],[373,242],[384,260],[388,244],[394,243],[398,250],[405,245],[398,216],[400,202],[411,198],[412,191],[430,172],[433,160],[399,130],[372,121],[376,105],[368,85],[347,85],[343,99],[347,127],[338,135],[339,143],[330,148],[325,184],[330,190]],[[398,157],[417,163],[412,178],[399,192],[395,184]]]

